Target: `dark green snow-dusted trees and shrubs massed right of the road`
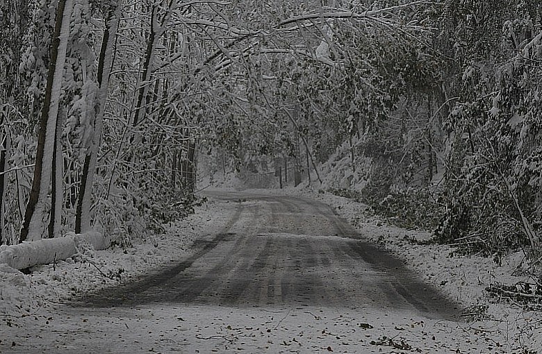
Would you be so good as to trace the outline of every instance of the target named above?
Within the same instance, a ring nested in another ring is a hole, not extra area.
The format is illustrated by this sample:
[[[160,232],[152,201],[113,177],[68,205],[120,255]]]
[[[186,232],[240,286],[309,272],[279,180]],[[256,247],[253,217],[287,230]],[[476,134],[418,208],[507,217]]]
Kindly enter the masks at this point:
[[[303,98],[320,160],[340,150],[346,166],[350,146],[352,171],[333,171],[335,187],[358,187],[375,211],[467,251],[539,253],[540,11],[532,1],[422,4],[400,15],[430,31],[395,42],[389,27],[364,36],[334,22],[330,58],[347,58],[344,71],[298,65],[286,82],[299,91],[285,95]],[[366,180],[349,186],[356,168]]]

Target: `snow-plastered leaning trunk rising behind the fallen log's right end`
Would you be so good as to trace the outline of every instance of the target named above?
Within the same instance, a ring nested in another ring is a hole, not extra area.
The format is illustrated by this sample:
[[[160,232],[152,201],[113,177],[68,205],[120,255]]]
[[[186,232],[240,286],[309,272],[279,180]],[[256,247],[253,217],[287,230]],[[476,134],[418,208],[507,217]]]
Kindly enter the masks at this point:
[[[98,61],[98,94],[97,111],[94,121],[92,143],[85,155],[83,172],[81,175],[81,187],[75,214],[75,232],[86,233],[90,230],[90,206],[92,195],[92,183],[96,171],[98,148],[101,141],[101,130],[104,126],[104,112],[106,108],[109,75],[113,66],[113,49],[117,38],[117,25],[122,12],[122,0],[111,5],[106,19],[104,37],[101,41],[100,56]]]

